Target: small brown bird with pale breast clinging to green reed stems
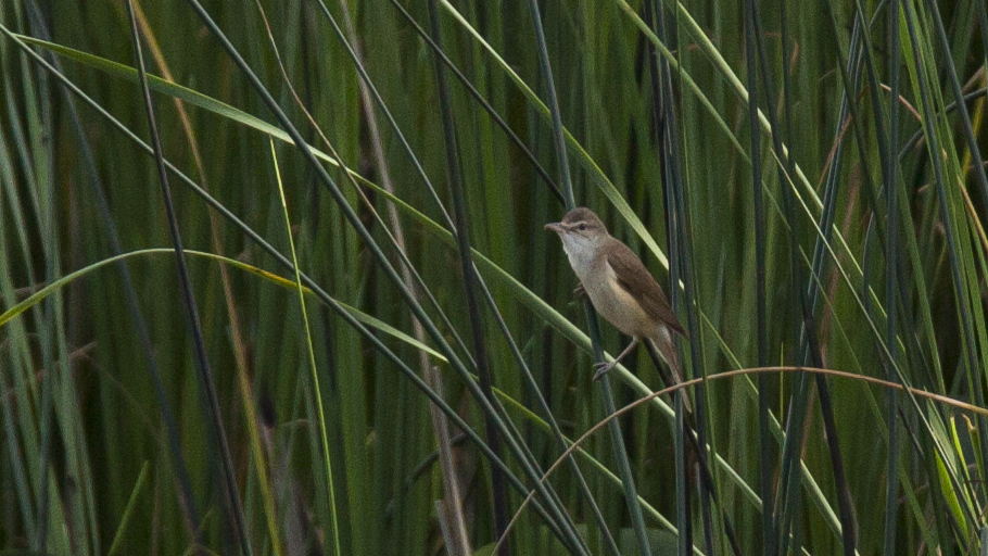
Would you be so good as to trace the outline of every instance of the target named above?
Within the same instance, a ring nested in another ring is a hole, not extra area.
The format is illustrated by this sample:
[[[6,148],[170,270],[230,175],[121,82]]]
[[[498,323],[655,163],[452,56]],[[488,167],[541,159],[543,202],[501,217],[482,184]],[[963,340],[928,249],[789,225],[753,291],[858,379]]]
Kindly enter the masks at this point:
[[[648,342],[669,366],[675,383],[681,383],[673,334],[686,338],[686,331],[642,260],[585,206],[568,212],[561,222],[546,224],[545,229],[559,235],[570,266],[597,313],[632,338],[615,361],[594,366],[594,380],[615,368],[638,343]]]

